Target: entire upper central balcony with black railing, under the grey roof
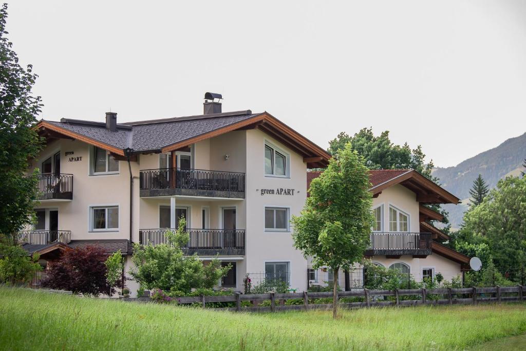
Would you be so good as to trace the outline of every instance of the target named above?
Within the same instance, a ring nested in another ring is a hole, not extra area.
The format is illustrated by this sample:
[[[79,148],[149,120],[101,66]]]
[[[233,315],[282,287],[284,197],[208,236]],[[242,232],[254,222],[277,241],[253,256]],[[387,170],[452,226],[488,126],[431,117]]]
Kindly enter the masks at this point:
[[[140,196],[204,196],[245,198],[245,173],[203,169],[145,169],[140,171]]]

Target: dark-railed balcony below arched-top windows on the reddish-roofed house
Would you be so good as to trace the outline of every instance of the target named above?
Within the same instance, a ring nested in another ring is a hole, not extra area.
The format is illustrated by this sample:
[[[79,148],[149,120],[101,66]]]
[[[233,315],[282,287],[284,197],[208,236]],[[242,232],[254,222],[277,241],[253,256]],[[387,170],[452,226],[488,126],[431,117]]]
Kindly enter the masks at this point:
[[[403,255],[425,257],[431,255],[431,233],[378,233],[370,235],[366,256]]]

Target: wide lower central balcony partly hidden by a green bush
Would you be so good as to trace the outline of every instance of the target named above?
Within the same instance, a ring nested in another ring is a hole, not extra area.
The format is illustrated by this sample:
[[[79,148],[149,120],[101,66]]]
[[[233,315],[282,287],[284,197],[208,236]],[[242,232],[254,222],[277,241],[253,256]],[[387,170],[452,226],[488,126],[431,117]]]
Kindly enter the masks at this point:
[[[168,229],[141,229],[141,245],[168,244]],[[175,231],[175,229],[170,229]],[[183,247],[186,255],[199,256],[244,256],[245,230],[187,229],[190,239]]]

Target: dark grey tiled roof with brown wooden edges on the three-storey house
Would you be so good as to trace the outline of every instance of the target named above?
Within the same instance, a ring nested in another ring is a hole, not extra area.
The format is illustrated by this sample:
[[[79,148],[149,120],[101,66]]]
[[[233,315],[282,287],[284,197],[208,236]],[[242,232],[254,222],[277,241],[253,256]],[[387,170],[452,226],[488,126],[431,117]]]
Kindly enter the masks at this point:
[[[115,132],[105,123],[69,118],[43,119],[36,127],[47,138],[78,139],[119,156],[125,156],[126,149],[131,154],[175,151],[231,131],[258,128],[303,155],[308,167],[325,167],[331,157],[269,113],[250,110],[117,124]]]

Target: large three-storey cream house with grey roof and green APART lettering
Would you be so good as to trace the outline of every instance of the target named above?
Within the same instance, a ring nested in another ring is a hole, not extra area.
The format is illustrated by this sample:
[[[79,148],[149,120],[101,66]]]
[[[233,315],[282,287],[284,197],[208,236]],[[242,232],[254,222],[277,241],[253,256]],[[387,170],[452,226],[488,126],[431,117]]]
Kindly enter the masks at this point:
[[[242,290],[250,273],[306,287],[289,219],[304,206],[307,169],[330,155],[267,112],[221,113],[217,97],[207,93],[198,116],[39,122],[46,146],[29,171],[42,172],[42,197],[36,224],[19,234],[24,247],[43,264],[67,246],[120,249],[127,272],[130,243],[164,242],[184,216],[188,254],[232,263],[222,286]]]

